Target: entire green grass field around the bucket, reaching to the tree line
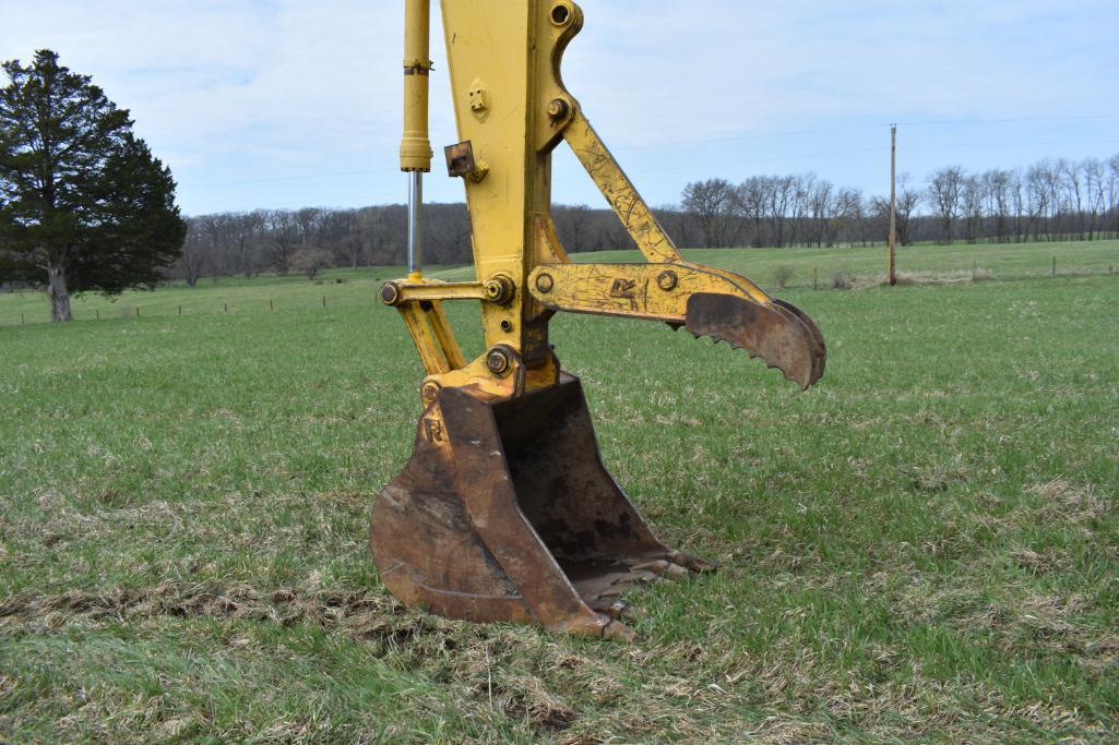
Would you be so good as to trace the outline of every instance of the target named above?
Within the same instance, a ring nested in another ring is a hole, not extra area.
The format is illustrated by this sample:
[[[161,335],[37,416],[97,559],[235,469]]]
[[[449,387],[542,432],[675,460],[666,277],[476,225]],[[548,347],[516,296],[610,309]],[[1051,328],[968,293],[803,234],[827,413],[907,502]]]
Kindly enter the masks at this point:
[[[881,253],[689,252],[794,267],[829,346],[806,394],[664,324],[554,321],[619,482],[722,565],[629,597],[631,645],[384,591],[367,519],[422,378],[375,301],[395,270],[68,324],[0,295],[0,741],[1115,741],[1119,243],[923,246],[922,282],[811,290]]]

